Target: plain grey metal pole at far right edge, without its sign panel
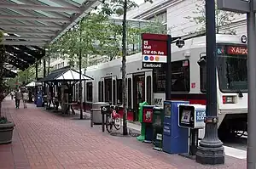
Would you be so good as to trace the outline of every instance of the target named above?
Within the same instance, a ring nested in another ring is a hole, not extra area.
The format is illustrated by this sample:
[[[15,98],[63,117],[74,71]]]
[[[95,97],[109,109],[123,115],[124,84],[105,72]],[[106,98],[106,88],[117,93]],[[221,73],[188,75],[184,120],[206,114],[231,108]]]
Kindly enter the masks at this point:
[[[256,31],[255,31],[255,13],[253,5],[256,1],[251,0],[250,12],[247,13],[247,75],[248,75],[248,136],[247,136],[247,169],[255,169],[256,167]]]

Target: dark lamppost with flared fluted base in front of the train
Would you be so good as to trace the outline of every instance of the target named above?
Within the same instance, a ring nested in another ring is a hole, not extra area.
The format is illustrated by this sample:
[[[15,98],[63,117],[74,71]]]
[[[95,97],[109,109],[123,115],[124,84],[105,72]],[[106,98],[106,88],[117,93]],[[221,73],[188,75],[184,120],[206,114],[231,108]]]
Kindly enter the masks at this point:
[[[206,1],[207,117],[206,133],[196,152],[201,164],[224,164],[224,147],[218,139],[215,1]]]

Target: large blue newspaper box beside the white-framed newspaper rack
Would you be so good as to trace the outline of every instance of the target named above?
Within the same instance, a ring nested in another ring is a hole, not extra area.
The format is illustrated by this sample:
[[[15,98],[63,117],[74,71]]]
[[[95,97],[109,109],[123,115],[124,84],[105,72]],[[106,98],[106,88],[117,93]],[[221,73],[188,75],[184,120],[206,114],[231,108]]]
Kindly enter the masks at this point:
[[[178,126],[178,106],[189,101],[164,101],[163,151],[169,154],[188,153],[189,129]]]

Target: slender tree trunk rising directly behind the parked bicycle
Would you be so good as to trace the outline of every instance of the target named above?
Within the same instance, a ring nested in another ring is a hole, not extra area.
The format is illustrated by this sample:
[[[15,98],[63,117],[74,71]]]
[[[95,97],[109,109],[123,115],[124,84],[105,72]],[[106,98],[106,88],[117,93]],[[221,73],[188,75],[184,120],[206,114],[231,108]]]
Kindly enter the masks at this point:
[[[126,76],[126,12],[127,12],[127,0],[124,2],[124,19],[123,19],[123,37],[122,37],[122,89],[123,89],[123,106],[124,106],[124,115],[123,115],[123,135],[127,135],[127,85],[125,82]]]

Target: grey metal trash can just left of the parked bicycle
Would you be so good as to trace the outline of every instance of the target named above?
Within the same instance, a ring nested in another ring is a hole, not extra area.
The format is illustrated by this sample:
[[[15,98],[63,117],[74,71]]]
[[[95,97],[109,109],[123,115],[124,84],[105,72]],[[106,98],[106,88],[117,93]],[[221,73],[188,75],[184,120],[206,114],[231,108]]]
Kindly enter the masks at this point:
[[[93,103],[90,109],[90,113],[93,114],[92,115],[92,122],[93,124],[102,124],[102,111],[101,111],[101,107],[102,106],[106,106],[109,105],[106,102],[96,102]],[[106,119],[106,117],[105,117]]]

